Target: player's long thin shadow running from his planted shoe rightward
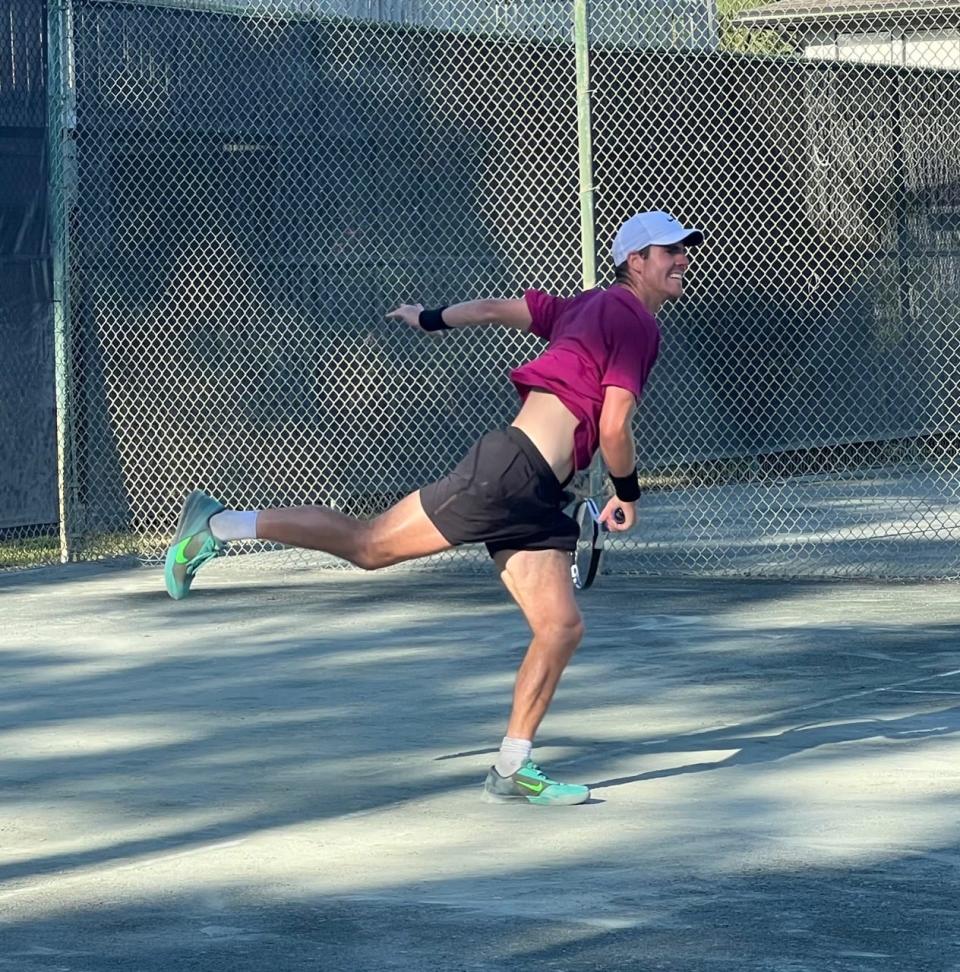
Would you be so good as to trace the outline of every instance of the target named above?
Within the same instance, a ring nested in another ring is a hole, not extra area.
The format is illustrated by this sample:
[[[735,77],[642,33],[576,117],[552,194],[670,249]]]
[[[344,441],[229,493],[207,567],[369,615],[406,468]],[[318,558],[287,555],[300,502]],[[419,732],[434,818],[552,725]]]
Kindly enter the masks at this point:
[[[736,728],[736,727],[733,727]],[[649,770],[633,776],[619,776],[589,783],[591,790],[622,786],[626,783],[642,783],[646,780],[685,776],[690,773],[706,773],[727,769],[731,766],[749,766],[772,763],[795,756],[798,753],[838,743],[862,742],[868,739],[922,740],[947,736],[960,730],[960,705],[936,712],[903,716],[899,719],[862,719],[855,722],[796,726],[774,735],[744,736],[731,734],[729,730],[712,730],[679,739],[665,740],[662,744],[644,747],[650,752],[710,752],[734,750],[723,759],[665,769]]]

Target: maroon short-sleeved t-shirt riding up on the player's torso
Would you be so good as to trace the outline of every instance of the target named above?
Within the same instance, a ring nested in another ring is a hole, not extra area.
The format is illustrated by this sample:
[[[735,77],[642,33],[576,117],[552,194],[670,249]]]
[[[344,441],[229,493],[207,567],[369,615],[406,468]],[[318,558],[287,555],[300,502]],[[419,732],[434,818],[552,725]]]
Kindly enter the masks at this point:
[[[637,401],[660,349],[656,318],[625,287],[553,297],[542,290],[523,295],[532,334],[547,350],[510,373],[522,399],[534,388],[556,395],[580,420],[574,436],[575,469],[586,469],[600,440],[600,410],[608,385]]]

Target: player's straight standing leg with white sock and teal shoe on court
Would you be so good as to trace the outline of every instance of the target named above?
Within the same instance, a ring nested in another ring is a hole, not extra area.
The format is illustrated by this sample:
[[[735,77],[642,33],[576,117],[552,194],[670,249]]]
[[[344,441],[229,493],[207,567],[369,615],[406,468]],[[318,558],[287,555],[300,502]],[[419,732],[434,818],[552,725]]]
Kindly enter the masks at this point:
[[[533,738],[583,638],[583,620],[570,582],[570,556],[562,550],[504,550],[494,561],[533,640],[517,672],[507,735],[484,783],[484,799],[583,803],[590,796],[587,787],[551,780],[531,758]]]

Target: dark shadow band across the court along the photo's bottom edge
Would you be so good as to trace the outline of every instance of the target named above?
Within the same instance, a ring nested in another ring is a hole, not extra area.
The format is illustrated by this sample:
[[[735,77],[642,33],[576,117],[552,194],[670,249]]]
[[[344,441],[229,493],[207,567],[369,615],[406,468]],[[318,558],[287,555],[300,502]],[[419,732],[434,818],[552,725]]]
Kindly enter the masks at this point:
[[[749,821],[746,821],[749,823]],[[316,893],[198,879],[159,893],[144,875],[95,902],[8,905],[4,959],[17,972],[953,972],[960,846],[834,865],[768,861],[717,867],[682,835],[533,862],[489,874],[490,848],[458,877],[384,881],[368,893]],[[701,838],[702,839],[702,838]],[[359,860],[363,848],[357,848]],[[316,848],[318,867],[323,847]],[[674,865],[674,858],[682,861]]]

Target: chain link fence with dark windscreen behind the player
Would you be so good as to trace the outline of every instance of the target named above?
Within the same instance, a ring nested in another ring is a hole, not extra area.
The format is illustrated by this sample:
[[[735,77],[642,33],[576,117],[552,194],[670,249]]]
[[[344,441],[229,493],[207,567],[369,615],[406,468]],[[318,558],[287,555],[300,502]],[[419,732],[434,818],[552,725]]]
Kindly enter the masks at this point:
[[[157,558],[198,486],[385,509],[538,342],[384,313],[605,284],[666,208],[708,243],[607,569],[956,576],[960,8],[887,8],[51,5],[69,556]]]

